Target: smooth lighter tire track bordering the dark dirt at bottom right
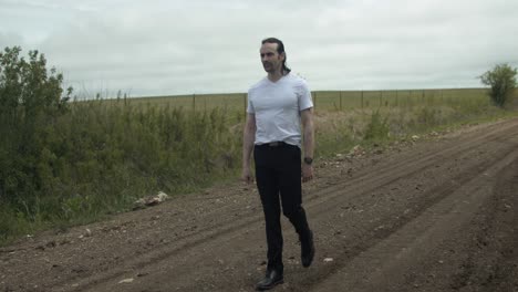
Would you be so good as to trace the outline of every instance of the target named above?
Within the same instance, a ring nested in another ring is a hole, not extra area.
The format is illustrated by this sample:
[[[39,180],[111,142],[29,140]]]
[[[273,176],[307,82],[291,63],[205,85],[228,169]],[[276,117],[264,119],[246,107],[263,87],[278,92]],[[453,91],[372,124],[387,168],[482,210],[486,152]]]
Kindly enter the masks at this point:
[[[514,145],[516,147],[518,143]],[[493,195],[493,178],[518,159],[516,149],[489,164],[483,174],[470,176],[458,188],[437,190],[441,192],[437,199],[423,205],[417,216],[391,230],[380,241],[372,242],[374,244],[362,246],[360,253],[328,269],[311,291],[401,291],[402,277],[417,267],[416,262],[427,255],[428,250],[464,228],[486,204]]]

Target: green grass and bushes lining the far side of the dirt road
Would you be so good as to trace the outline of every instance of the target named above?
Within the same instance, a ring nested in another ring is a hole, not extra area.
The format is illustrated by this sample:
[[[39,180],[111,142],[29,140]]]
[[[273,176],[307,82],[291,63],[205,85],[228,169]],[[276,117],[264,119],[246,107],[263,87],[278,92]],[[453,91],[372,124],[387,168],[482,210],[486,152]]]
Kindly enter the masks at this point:
[[[73,101],[44,55],[31,51],[25,60],[20,53],[0,53],[0,244],[131,210],[159,190],[177,196],[237,179],[242,94],[231,96],[236,107],[228,100],[204,111],[153,98]],[[489,98],[419,96],[395,104],[385,96],[388,102],[370,106],[362,100],[359,107],[341,96],[340,106],[317,107],[317,158],[516,116]]]

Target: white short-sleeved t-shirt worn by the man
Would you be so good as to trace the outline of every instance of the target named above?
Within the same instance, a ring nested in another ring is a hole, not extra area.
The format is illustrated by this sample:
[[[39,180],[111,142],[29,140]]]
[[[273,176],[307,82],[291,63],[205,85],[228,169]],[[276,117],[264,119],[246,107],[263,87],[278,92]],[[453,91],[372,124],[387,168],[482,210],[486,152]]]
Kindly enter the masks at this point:
[[[305,81],[288,74],[262,79],[248,91],[247,113],[256,115],[256,145],[286,142],[301,146],[300,112],[313,107]]]

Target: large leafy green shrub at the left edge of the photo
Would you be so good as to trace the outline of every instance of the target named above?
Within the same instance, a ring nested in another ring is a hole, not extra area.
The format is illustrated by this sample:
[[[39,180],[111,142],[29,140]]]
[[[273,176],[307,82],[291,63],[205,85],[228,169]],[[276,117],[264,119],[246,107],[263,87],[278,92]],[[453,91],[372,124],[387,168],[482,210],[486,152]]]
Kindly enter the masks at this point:
[[[52,184],[55,155],[46,145],[72,88],[63,95],[63,75],[46,71],[44,55],[30,51],[25,61],[20,52],[14,46],[0,53],[0,204],[35,218],[39,190]]]

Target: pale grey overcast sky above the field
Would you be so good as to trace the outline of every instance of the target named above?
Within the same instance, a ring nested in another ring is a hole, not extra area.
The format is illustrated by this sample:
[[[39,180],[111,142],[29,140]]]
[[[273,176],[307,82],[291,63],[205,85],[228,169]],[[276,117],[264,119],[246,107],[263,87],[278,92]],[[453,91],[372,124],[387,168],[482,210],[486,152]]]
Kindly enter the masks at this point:
[[[92,96],[246,92],[268,36],[314,91],[477,87],[517,35],[517,0],[0,0],[0,48]]]

